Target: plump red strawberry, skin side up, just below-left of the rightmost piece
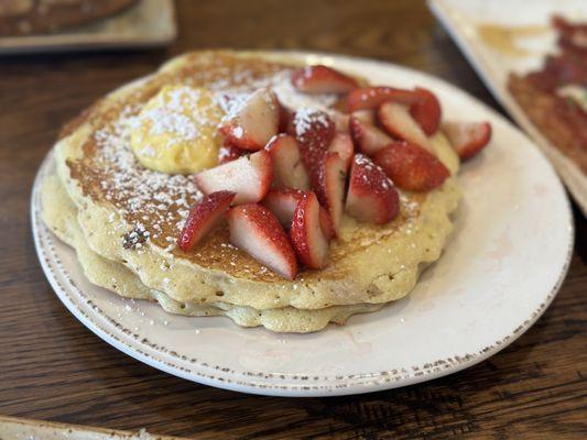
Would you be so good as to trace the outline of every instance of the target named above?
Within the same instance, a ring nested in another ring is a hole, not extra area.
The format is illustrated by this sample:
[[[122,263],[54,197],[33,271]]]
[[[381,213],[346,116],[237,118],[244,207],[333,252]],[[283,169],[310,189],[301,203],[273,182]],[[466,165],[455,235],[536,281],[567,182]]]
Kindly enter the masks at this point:
[[[393,142],[376,153],[373,162],[396,186],[411,191],[437,188],[450,175],[434,154],[402,141]]]

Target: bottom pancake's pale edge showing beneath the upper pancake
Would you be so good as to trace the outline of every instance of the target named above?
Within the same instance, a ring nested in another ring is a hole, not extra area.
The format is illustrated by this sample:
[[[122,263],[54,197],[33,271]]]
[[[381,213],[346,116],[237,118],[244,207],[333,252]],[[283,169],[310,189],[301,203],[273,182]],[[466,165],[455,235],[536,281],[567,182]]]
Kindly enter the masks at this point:
[[[75,249],[77,260],[90,283],[124,298],[156,301],[170,314],[192,317],[226,316],[241,327],[262,326],[275,332],[308,333],[322,330],[328,322],[343,324],[351,315],[376,311],[383,307],[360,304],[319,310],[300,310],[293,307],[257,310],[224,302],[178,302],[162,292],[146,287],[123,265],[106,260],[89,249],[77,222],[77,209],[56,175],[46,177],[41,195],[45,224],[59,240]]]

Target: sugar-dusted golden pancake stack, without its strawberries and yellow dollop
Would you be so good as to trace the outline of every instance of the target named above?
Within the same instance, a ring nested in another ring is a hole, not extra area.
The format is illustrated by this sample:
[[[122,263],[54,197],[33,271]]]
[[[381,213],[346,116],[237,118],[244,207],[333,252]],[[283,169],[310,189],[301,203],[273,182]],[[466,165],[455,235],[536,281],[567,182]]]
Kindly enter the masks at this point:
[[[89,280],[118,295],[157,301],[166,311],[230,317],[243,327],[311,332],[344,323],[405,296],[426,263],[437,260],[459,199],[458,157],[442,134],[432,144],[453,177],[433,191],[402,191],[400,215],[384,226],[345,216],[325,270],[281,278],[214,231],[191,253],[177,234],[202,197],[187,175],[144,168],[130,132],[144,103],[165,85],[206,87],[237,96],[271,87],[285,106],[324,109],[326,100],[297,95],[287,59],[200,52],[112,92],[63,131],[56,173],[43,187],[47,227],[75,248]]]

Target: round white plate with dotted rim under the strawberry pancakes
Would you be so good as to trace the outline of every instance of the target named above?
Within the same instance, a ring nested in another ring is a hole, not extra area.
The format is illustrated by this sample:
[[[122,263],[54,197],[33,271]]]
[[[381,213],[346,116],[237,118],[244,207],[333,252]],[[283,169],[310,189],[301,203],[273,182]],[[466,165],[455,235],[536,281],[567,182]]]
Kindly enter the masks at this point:
[[[573,249],[565,191],[519,130],[464,91],[371,61],[292,54],[374,84],[434,90],[450,118],[489,120],[491,145],[463,167],[465,197],[443,257],[406,298],[312,334],[242,329],[228,318],[186,318],[90,285],[75,252],[40,219],[42,165],[32,195],[39,257],[65,306],[108,343],[167,373],[247,393],[330,396],[428,381],[474,365],[522,334],[554,298]]]

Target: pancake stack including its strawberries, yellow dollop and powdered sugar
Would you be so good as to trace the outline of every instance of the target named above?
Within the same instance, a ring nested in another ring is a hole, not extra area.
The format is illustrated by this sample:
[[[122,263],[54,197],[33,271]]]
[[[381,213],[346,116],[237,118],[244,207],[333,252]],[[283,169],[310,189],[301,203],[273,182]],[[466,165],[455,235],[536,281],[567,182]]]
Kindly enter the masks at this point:
[[[64,129],[43,216],[121,296],[316,331],[409,294],[490,134],[443,121],[433,90],[193,53]]]

